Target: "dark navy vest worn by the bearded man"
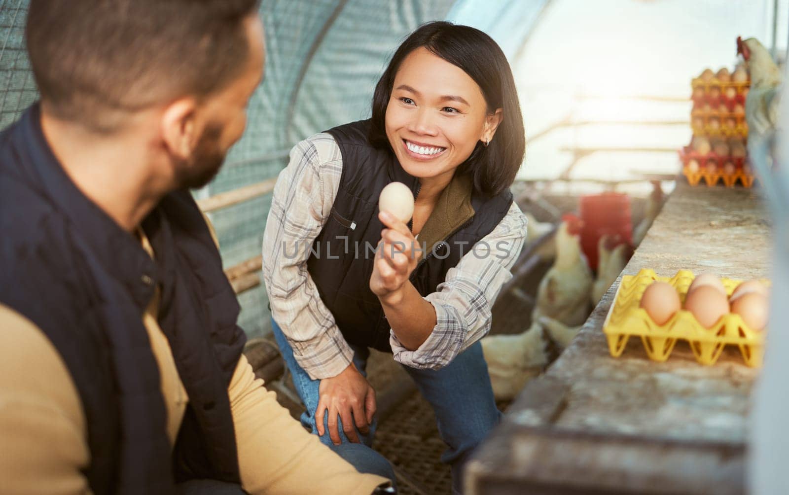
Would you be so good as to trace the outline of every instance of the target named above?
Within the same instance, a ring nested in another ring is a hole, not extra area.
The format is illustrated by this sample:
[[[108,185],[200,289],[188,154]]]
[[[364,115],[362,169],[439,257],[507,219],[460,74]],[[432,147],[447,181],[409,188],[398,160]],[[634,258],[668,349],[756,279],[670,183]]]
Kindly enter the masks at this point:
[[[143,228],[155,261],[69,180],[38,105],[0,134],[0,303],[36,323],[73,378],[93,493],[172,493],[189,478],[239,482],[227,386],[245,334],[233,289],[189,192],[166,196]],[[174,448],[142,322],[156,285],[159,325],[189,394]]]

